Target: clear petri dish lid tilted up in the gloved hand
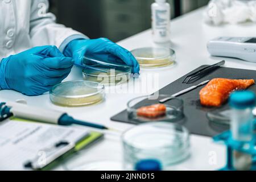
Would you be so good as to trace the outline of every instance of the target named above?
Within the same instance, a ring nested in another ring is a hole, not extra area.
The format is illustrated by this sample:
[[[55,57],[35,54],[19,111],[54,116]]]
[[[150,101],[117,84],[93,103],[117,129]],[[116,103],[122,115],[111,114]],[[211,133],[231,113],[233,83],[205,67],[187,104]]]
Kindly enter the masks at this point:
[[[129,74],[133,69],[126,64],[108,63],[90,57],[84,57],[82,63],[87,67],[85,68],[86,70],[100,71],[102,73]]]

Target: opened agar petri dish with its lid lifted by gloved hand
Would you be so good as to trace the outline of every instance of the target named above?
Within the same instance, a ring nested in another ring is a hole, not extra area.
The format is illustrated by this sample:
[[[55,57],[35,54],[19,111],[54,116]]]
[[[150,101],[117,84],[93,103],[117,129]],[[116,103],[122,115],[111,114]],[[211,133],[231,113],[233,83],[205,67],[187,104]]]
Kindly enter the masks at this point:
[[[123,84],[130,79],[132,68],[125,64],[106,63],[101,60],[84,58],[86,66],[82,71],[84,80],[99,82],[106,86]]]

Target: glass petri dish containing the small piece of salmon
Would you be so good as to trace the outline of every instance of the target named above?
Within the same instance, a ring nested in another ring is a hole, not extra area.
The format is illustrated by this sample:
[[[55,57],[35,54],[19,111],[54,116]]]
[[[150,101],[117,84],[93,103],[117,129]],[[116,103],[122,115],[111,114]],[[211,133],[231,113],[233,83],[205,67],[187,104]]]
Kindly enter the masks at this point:
[[[176,122],[184,117],[183,114],[183,100],[179,98],[172,98],[172,100],[165,102],[163,105],[165,110],[151,110],[149,114],[141,113],[142,108],[159,105],[159,101],[163,98],[171,97],[168,95],[159,96],[141,96],[130,100],[127,103],[127,112],[129,119],[137,122],[155,122],[166,121]],[[161,104],[162,105],[162,104]],[[159,112],[160,111],[160,112]]]

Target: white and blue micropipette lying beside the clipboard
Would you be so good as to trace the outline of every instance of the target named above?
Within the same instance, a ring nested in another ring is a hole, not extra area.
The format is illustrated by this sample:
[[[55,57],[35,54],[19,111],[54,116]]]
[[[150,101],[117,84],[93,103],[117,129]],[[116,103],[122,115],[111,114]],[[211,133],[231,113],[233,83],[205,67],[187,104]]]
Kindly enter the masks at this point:
[[[0,118],[4,118],[6,115],[13,115],[17,118],[30,119],[31,121],[38,121],[44,123],[51,123],[55,125],[82,125],[88,127],[94,127],[101,130],[111,130],[106,126],[98,125],[95,123],[89,123],[85,121],[79,121],[69,116],[67,113],[56,110],[42,109],[39,107],[32,107],[26,104],[20,104],[18,102],[2,102],[0,103]]]

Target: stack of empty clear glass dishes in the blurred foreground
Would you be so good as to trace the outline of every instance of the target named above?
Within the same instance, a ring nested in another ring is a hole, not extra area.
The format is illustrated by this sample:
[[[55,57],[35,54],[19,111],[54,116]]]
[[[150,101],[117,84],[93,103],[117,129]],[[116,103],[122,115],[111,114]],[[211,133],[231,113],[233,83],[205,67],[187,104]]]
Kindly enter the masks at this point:
[[[158,160],[163,169],[183,162],[190,154],[188,130],[175,123],[143,123],[122,135],[123,167],[134,170],[145,159]]]

